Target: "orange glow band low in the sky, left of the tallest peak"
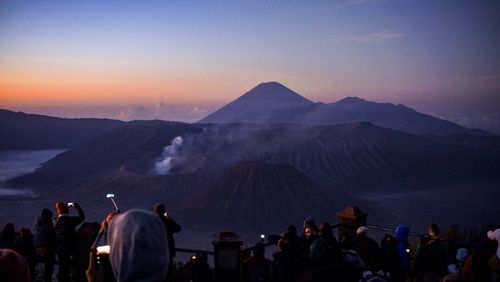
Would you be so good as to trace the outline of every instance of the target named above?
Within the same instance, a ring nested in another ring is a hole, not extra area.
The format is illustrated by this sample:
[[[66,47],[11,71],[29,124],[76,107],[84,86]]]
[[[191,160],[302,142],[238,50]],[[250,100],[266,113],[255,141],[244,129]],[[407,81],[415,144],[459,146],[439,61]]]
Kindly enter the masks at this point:
[[[205,75],[147,72],[89,72],[48,69],[42,71],[0,69],[0,104],[102,104],[220,101],[221,94],[233,96],[234,85]]]

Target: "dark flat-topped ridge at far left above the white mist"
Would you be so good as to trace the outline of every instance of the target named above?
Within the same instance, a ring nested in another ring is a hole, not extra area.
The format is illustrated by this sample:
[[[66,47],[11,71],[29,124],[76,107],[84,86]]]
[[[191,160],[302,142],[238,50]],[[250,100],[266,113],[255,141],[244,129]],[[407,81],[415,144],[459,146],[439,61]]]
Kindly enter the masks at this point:
[[[0,109],[0,150],[73,148],[124,124],[110,119],[56,118]]]

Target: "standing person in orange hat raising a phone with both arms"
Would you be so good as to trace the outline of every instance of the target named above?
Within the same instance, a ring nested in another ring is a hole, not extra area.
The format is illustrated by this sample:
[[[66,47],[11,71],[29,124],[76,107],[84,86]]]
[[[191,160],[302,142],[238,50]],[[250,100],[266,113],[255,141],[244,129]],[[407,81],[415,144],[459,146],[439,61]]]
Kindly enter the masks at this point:
[[[59,261],[59,281],[70,281],[70,270],[76,248],[76,227],[83,222],[85,215],[78,203],[73,204],[78,216],[70,216],[67,203],[57,202],[58,217],[54,225],[56,233],[56,254]]]

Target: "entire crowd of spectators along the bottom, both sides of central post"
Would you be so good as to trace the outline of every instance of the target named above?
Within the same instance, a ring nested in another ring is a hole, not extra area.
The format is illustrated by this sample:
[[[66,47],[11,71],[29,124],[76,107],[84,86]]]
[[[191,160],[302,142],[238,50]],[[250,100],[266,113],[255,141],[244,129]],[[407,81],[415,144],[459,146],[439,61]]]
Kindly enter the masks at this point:
[[[76,215],[70,215],[70,209]],[[113,211],[99,225],[83,223],[78,203],[57,202],[57,217],[43,209],[29,228],[4,226],[0,236],[0,281],[214,281],[206,254],[174,266],[174,233],[181,226],[165,205],[153,212]],[[83,223],[83,224],[82,224]],[[79,226],[79,227],[78,227]],[[78,228],[78,232],[77,232]],[[500,281],[500,228],[474,244],[444,240],[431,224],[416,246],[404,225],[380,244],[370,228],[359,227],[336,238],[332,226],[304,220],[302,231],[290,225],[266,258],[257,243],[243,257],[239,280],[287,281]],[[58,266],[57,274],[54,265]],[[175,274],[174,274],[175,270]]]

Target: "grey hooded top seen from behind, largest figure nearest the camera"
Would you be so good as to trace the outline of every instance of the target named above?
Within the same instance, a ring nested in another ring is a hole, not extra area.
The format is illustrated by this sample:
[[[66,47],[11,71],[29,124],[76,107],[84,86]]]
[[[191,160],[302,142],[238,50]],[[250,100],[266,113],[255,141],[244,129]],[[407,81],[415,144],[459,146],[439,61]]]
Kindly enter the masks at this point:
[[[108,231],[109,260],[121,281],[165,281],[169,253],[161,220],[153,213],[130,210],[117,215]]]

